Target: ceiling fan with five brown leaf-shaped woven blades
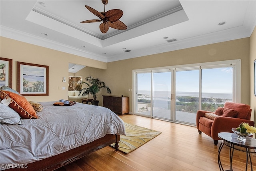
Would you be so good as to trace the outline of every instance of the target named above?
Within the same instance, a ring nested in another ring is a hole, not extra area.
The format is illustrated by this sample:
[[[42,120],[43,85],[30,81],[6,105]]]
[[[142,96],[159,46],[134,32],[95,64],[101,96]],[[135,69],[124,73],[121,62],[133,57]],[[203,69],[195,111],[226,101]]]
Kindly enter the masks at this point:
[[[100,31],[102,33],[108,32],[109,27],[118,29],[118,30],[126,30],[127,26],[121,22],[119,19],[122,17],[124,14],[122,10],[114,9],[114,10],[109,10],[105,12],[106,10],[106,4],[108,4],[108,0],[102,0],[102,3],[104,4],[104,12],[98,12],[91,8],[90,6],[85,5],[85,7],[92,12],[92,14],[96,15],[99,19],[93,19],[93,20],[86,20],[82,21],[81,23],[91,23],[91,22],[101,22],[100,24]]]

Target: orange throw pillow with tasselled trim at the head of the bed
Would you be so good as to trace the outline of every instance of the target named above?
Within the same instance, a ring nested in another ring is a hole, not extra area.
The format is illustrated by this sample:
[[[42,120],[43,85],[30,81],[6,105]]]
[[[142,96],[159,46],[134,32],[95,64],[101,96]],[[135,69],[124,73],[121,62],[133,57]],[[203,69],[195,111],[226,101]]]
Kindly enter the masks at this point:
[[[17,113],[19,113],[20,117],[23,119],[33,119],[38,118],[36,115],[36,111],[32,107],[32,105],[27,101],[27,99],[23,96],[20,96],[16,93],[12,93],[11,91],[0,91],[0,98],[3,100],[4,98],[10,98],[11,103],[9,107],[14,109]]]

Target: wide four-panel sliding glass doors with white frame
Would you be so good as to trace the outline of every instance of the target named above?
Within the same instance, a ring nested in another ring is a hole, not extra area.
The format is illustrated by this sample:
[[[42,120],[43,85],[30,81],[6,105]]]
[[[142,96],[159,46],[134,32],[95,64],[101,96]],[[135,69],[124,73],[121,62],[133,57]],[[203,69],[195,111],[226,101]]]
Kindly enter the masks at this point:
[[[240,60],[133,70],[133,111],[195,125],[198,109],[240,102],[240,70]]]

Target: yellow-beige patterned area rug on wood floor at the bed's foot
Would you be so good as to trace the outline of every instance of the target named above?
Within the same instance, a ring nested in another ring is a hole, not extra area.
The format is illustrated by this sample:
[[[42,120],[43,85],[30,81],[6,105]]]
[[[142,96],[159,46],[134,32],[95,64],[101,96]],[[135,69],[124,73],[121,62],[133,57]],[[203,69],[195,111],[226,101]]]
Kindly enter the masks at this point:
[[[125,154],[128,154],[143,144],[147,143],[154,137],[160,135],[162,132],[152,129],[132,125],[130,123],[124,123],[126,136],[120,135],[119,148]],[[114,143],[111,147],[114,147]]]

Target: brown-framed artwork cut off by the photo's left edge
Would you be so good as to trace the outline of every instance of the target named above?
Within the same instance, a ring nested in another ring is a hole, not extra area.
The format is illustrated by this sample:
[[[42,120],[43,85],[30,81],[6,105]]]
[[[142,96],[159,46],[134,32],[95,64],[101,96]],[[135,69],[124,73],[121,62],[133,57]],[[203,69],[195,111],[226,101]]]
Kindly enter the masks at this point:
[[[0,58],[0,87],[12,88],[12,59]]]

